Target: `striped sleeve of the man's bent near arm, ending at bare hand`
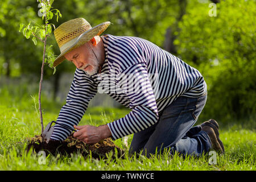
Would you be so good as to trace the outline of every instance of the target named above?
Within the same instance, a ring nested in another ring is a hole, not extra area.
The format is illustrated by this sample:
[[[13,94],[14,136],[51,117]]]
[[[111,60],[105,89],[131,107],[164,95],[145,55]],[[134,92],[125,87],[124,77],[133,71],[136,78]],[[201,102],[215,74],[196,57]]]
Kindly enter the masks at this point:
[[[135,64],[118,76],[121,92],[130,100],[130,113],[108,123],[112,139],[137,133],[158,121],[158,109],[145,63]]]

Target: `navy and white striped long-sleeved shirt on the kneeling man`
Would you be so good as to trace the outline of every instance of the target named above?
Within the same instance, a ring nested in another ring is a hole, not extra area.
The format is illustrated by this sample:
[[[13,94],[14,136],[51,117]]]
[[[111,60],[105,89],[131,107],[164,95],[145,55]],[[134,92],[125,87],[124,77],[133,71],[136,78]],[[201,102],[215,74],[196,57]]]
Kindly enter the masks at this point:
[[[155,44],[130,36],[105,34],[101,38],[105,48],[101,73],[90,76],[76,69],[57,123],[78,125],[89,101],[97,92],[106,93],[131,109],[125,117],[108,123],[115,140],[154,125],[177,97],[200,97],[207,92],[197,69]],[[51,139],[64,140],[71,132],[56,124]]]

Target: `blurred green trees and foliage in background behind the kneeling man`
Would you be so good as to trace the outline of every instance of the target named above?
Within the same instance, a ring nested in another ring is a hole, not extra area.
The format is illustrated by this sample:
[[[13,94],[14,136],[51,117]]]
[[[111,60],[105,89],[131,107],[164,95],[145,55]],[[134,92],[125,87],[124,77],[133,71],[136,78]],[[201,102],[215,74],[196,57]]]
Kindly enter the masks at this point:
[[[38,4],[36,0],[1,0],[0,94],[12,80],[26,80],[28,87],[39,82],[43,44],[34,46],[19,32],[20,23],[42,21]],[[110,21],[113,24],[105,34],[150,40],[204,76],[208,101],[201,117],[230,121],[255,118],[255,5],[254,0],[55,0],[53,7],[63,16],[51,23],[58,27],[83,17],[93,27]],[[54,36],[48,41],[59,55]],[[57,67],[55,75],[45,69],[52,100],[58,100],[57,93],[68,92],[70,82],[65,85],[61,78],[69,73],[72,81],[74,71],[68,61]]]

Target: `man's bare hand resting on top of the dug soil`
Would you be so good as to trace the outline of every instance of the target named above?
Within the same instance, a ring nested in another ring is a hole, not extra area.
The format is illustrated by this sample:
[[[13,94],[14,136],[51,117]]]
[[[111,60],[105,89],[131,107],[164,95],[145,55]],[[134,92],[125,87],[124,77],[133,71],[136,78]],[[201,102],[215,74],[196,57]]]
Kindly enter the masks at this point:
[[[88,144],[97,143],[104,138],[108,138],[112,136],[108,125],[103,125],[98,127],[90,126],[90,125],[83,125],[83,126],[74,125],[74,128],[79,131],[76,131],[76,133],[73,136],[79,139],[80,141]]]

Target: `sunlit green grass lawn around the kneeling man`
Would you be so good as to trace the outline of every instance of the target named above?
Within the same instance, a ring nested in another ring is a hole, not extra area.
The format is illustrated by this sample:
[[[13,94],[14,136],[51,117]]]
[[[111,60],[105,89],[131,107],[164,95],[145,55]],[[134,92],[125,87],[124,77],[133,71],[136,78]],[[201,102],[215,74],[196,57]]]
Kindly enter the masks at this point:
[[[23,90],[23,91],[22,91]],[[224,143],[225,155],[217,156],[217,164],[209,164],[209,156],[201,158],[187,156],[163,155],[129,156],[123,139],[115,140],[117,146],[126,152],[124,159],[117,157],[111,160],[113,153],[105,159],[84,159],[80,154],[67,156],[51,156],[46,158],[46,164],[40,164],[41,156],[26,154],[27,137],[40,134],[40,119],[35,109],[32,97],[14,88],[0,89],[0,170],[255,170],[255,121],[220,122],[220,137]],[[37,100],[37,97],[35,97]],[[44,126],[52,120],[56,121],[61,104],[46,100],[43,96],[42,107],[45,109]],[[89,108],[80,125],[102,125],[125,116],[127,109]],[[203,121],[198,121],[201,123]],[[225,123],[225,125],[224,125]],[[128,136],[130,144],[132,135]]]

